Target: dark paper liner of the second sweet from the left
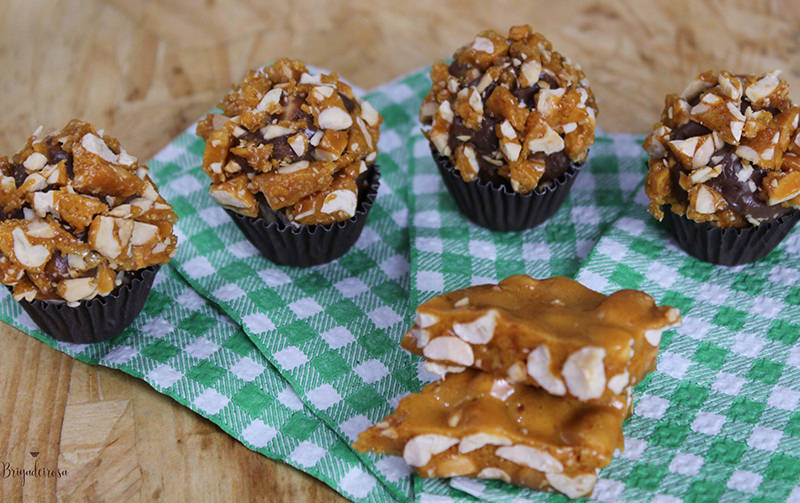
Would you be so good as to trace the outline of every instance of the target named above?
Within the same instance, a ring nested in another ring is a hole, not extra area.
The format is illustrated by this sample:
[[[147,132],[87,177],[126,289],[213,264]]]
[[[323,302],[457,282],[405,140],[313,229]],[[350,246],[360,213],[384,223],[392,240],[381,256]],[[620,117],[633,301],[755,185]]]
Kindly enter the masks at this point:
[[[310,267],[335,260],[355,244],[364,229],[367,214],[375,203],[380,185],[380,170],[370,167],[366,193],[359,197],[356,214],[328,225],[287,225],[267,222],[228,211],[247,239],[266,258],[280,265]]]

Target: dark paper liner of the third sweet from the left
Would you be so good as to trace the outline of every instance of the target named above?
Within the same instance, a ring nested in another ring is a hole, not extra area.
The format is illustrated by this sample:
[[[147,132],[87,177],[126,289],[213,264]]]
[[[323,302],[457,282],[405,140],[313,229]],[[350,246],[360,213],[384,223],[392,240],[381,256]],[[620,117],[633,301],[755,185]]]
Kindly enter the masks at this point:
[[[550,186],[519,194],[491,182],[465,182],[450,159],[439,154],[433,145],[431,153],[461,213],[476,224],[495,231],[530,229],[553,216],[579,173],[579,167],[573,164]]]

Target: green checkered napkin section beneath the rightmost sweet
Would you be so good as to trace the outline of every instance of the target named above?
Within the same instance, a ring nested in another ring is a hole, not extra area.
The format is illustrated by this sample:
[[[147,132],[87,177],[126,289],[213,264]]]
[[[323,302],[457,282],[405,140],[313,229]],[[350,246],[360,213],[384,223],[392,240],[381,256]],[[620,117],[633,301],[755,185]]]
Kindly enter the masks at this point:
[[[677,248],[636,202],[577,279],[608,293],[637,288],[680,308],[658,370],[637,387],[625,434],[633,448],[607,470],[622,501],[800,498],[800,230],[738,267]],[[605,475],[605,473],[604,473]]]

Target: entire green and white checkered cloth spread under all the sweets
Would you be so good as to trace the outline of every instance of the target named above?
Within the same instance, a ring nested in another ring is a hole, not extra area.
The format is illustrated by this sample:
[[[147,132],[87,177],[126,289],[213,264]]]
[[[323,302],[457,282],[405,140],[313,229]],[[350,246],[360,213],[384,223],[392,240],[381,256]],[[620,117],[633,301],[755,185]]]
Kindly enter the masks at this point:
[[[61,344],[8,294],[0,319],[147,381],[357,501],[555,502],[566,499],[409,477],[402,459],[349,443],[433,379],[398,346],[419,302],[515,273],[577,277],[606,293],[638,288],[679,307],[684,324],[664,334],[657,371],[636,388],[625,452],[589,500],[800,502],[800,231],[757,264],[689,258],[646,214],[641,192],[633,197],[643,152],[640,138],[624,135],[598,138],[547,223],[509,234],[476,227],[457,212],[419,133],[427,73],[367,96],[385,121],[381,189],[361,238],[334,263],[263,259],[208,197],[204,146],[189,128],[150,163],[181,216],[181,247],[133,326],[103,344]]]

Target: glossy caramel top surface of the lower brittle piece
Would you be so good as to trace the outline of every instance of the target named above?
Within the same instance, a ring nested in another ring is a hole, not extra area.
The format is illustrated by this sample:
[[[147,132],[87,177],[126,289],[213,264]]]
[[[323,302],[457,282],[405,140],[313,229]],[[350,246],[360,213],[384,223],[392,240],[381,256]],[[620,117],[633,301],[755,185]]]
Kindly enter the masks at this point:
[[[417,435],[460,439],[488,433],[546,451],[567,470],[585,471],[605,466],[614,449],[622,448],[625,416],[623,410],[553,396],[468,369],[405,397],[394,413],[363,432],[354,446],[402,455],[406,442]],[[495,448],[482,447],[472,456],[493,456]],[[454,446],[444,454],[456,451]]]

